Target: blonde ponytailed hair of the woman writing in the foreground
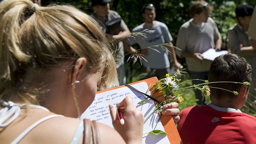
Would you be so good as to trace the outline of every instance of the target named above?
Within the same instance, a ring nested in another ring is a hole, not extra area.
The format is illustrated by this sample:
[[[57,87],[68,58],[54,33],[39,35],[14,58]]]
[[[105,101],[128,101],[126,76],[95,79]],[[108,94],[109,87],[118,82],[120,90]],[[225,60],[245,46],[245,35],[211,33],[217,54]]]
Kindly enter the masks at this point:
[[[38,103],[38,98],[22,87],[27,72],[34,70],[40,75],[65,63],[73,68],[80,57],[87,60],[88,75],[104,68],[99,89],[116,84],[115,60],[107,48],[107,39],[89,15],[73,6],[41,7],[30,0],[4,0],[0,7],[0,98],[3,100],[15,92],[23,100]],[[42,80],[31,77],[30,81]]]

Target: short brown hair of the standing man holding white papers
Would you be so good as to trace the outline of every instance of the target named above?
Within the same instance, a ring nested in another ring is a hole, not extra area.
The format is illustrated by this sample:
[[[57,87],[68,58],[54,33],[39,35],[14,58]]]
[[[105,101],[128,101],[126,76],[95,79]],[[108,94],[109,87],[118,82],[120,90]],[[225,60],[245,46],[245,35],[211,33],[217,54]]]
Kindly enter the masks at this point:
[[[204,0],[199,0],[189,7],[189,14],[191,17],[194,17],[196,13],[200,14],[204,10],[211,12],[213,7]]]

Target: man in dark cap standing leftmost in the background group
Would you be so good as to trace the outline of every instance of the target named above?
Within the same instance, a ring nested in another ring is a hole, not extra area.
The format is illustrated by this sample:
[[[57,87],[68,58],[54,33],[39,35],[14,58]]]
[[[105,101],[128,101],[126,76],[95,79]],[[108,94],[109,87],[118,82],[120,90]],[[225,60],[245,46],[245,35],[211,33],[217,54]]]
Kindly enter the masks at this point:
[[[109,42],[116,43],[113,47],[117,47],[116,58],[116,69],[118,74],[118,85],[126,84],[126,77],[124,74],[124,48],[123,42],[121,41],[126,37],[126,35],[130,34],[129,28],[126,26],[124,20],[122,20],[121,16],[115,12],[110,10],[109,2],[111,0],[92,0],[92,7],[94,12],[92,13],[92,17],[99,20],[99,23],[102,27],[102,30],[106,33],[106,37],[108,38]],[[112,24],[110,24],[112,23]],[[110,24],[110,25],[108,25]],[[110,30],[114,27],[114,30]],[[118,84],[120,82],[120,84]]]

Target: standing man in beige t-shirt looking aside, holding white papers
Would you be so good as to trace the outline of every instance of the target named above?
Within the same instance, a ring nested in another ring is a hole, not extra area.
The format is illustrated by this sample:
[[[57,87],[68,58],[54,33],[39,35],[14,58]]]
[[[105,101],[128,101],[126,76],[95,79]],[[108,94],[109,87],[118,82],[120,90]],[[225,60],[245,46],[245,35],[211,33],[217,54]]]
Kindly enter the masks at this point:
[[[210,48],[220,50],[222,40],[216,23],[210,17],[212,6],[205,1],[196,1],[189,8],[193,17],[185,22],[179,30],[176,46],[182,51],[176,51],[179,57],[185,57],[191,79],[208,79],[208,71],[212,61],[201,55]],[[203,82],[203,81],[202,81]],[[193,81],[193,84],[200,84]],[[198,105],[207,104],[201,91],[196,90]]]

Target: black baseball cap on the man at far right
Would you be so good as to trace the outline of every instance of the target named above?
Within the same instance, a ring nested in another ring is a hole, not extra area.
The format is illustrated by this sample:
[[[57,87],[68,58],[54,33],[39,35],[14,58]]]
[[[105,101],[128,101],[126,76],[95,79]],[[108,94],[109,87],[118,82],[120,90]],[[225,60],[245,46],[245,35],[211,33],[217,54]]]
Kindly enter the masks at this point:
[[[254,7],[252,5],[239,5],[236,8],[236,17],[244,17],[252,15]]]

